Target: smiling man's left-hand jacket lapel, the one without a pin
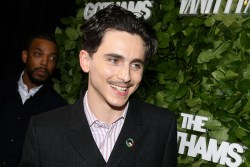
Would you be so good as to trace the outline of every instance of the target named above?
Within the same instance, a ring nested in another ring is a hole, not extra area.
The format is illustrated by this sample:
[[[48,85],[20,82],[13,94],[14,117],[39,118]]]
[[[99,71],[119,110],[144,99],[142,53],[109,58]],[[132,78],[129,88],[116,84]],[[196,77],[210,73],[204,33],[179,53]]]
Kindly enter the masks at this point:
[[[90,166],[105,166],[106,162],[95,144],[84,114],[83,99],[81,98],[69,112],[72,112],[72,119],[67,121],[66,126],[69,128],[65,131],[69,142]]]

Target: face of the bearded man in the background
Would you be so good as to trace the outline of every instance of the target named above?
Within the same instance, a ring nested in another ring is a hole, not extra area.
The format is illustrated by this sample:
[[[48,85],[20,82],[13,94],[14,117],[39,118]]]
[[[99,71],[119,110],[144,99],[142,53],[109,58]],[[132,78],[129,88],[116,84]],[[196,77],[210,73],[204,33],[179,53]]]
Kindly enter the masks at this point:
[[[35,39],[28,51],[22,52],[25,72],[31,83],[43,84],[52,75],[56,67],[58,51],[56,45],[45,39]]]

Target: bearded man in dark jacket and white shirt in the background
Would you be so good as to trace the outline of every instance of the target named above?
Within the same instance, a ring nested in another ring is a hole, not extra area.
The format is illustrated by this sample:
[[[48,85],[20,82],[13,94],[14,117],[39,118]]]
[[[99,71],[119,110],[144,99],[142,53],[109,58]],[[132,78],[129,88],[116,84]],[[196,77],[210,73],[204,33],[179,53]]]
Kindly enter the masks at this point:
[[[58,59],[56,41],[47,34],[31,37],[22,51],[25,69],[0,83],[0,166],[16,167],[31,116],[66,105],[47,83]]]

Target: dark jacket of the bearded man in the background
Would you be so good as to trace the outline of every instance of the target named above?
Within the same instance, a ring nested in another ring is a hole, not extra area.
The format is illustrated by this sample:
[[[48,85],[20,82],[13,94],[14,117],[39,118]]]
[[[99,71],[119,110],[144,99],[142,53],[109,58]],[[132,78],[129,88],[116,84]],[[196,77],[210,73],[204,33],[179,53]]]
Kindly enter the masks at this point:
[[[23,104],[18,92],[19,77],[0,83],[0,167],[17,167],[31,116],[67,105],[49,85]]]

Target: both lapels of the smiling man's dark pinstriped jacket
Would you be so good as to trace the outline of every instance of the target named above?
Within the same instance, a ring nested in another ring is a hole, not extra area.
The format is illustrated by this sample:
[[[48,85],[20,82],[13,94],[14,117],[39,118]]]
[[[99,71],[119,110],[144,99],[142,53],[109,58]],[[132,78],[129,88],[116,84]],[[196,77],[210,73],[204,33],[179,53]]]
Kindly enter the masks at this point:
[[[67,126],[65,134],[71,145],[90,166],[119,166],[119,163],[133,151],[133,147],[136,147],[138,140],[147,129],[143,124],[141,111],[137,108],[138,106],[135,106],[133,101],[131,101],[121,133],[107,163],[103,159],[91,134],[84,114],[83,98],[73,105],[72,111],[69,111],[72,114],[65,123]],[[127,146],[126,141],[128,139],[133,140],[132,147]]]

